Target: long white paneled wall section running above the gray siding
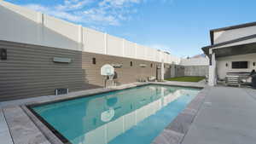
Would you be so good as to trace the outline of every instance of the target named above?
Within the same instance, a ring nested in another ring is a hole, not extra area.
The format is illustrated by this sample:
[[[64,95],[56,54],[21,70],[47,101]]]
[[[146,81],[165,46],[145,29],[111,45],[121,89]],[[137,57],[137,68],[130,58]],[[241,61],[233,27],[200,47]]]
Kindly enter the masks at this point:
[[[117,55],[166,63],[179,58],[157,49],[113,37],[103,32],[59,20],[46,14],[0,1],[0,40],[30,43],[61,49],[84,50],[103,55]]]

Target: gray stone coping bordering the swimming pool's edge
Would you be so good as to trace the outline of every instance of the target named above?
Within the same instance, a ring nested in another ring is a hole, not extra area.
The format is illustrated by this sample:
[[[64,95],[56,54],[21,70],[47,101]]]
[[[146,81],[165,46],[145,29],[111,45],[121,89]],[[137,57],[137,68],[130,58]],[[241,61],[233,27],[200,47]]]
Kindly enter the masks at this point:
[[[131,89],[143,85],[148,84],[159,84],[159,85],[170,85],[170,86],[178,86],[178,87],[189,87],[189,88],[195,88],[195,89],[201,89],[201,92],[195,96],[193,101],[191,101],[188,106],[183,110],[183,112],[179,113],[179,115],[172,121],[171,124],[169,124],[165,130],[163,130],[160,135],[158,135],[152,144],[179,144],[180,141],[183,139],[183,136],[188,131],[187,129],[184,130],[184,128],[188,127],[188,120],[180,120],[180,119],[188,119],[189,118],[195,118],[196,113],[199,110],[198,105],[201,106],[202,101],[199,101],[202,99],[203,96],[201,96],[202,91],[206,89],[204,86],[200,85],[191,85],[191,84],[172,84],[172,83],[162,83],[162,82],[149,82],[149,83],[141,83],[141,84],[129,84],[125,85],[123,87],[118,88],[108,88],[108,89],[98,89],[98,90],[92,90],[90,93],[86,93],[84,95],[81,95],[79,93],[75,95],[65,95],[65,96],[58,96],[54,97],[52,100],[44,100],[44,101],[33,101],[28,102],[24,105],[21,105],[20,107],[23,109],[24,112],[26,112],[27,116],[31,118],[32,122],[38,127],[38,129],[44,134],[44,136],[47,138],[47,140],[52,144],[71,144],[70,141],[67,140],[61,133],[59,133],[57,130],[55,130],[50,124],[48,124],[44,118],[41,118],[37,112],[34,112],[31,107],[33,106],[39,106],[59,101],[68,101],[73,99],[79,99],[83,97],[88,97],[91,95],[97,95],[102,93],[108,93],[112,91],[117,91],[120,89]],[[192,103],[192,104],[191,104]],[[190,106],[191,105],[191,106]],[[189,107],[190,106],[190,107]],[[192,120],[193,121],[193,120]],[[190,124],[192,124],[192,121]],[[167,143],[163,143],[163,141],[166,141]],[[178,143],[177,143],[178,142]]]

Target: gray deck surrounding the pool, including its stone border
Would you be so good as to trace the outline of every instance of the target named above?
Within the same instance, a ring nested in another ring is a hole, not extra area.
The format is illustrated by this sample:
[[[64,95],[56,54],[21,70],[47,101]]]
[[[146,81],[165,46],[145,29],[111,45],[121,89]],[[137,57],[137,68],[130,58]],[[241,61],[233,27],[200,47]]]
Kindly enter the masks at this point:
[[[170,84],[204,87],[205,84],[168,82]],[[124,89],[137,84],[120,86]],[[55,101],[76,95],[104,92],[109,89],[90,89],[71,95],[41,96],[20,101],[0,102],[0,139],[6,144],[49,144],[49,138],[26,115],[20,105],[31,102]],[[256,90],[230,87],[205,87],[189,106],[177,116],[160,136],[160,144],[240,144],[255,143]],[[197,111],[191,109],[197,108]],[[194,116],[190,114],[194,113]],[[7,123],[6,123],[7,121]],[[156,139],[156,140],[157,140]],[[6,141],[6,142],[5,142]],[[158,143],[156,142],[155,143]]]

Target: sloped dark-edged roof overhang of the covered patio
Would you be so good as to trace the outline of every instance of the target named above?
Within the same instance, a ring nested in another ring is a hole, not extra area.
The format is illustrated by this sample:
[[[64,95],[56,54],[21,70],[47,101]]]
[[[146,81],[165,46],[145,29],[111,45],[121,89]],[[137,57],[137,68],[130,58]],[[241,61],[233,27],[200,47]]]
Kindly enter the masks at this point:
[[[203,47],[202,50],[208,57],[211,57],[209,53],[210,49],[215,53],[216,58],[256,53],[256,35],[241,37],[228,42]]]

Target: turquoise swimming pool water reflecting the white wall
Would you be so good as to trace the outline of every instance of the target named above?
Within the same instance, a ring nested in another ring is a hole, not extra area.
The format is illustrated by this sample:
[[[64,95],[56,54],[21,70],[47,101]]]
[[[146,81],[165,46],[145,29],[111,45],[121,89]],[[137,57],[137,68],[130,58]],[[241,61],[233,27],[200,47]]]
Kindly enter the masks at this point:
[[[150,144],[199,92],[152,84],[32,109],[73,144]]]

